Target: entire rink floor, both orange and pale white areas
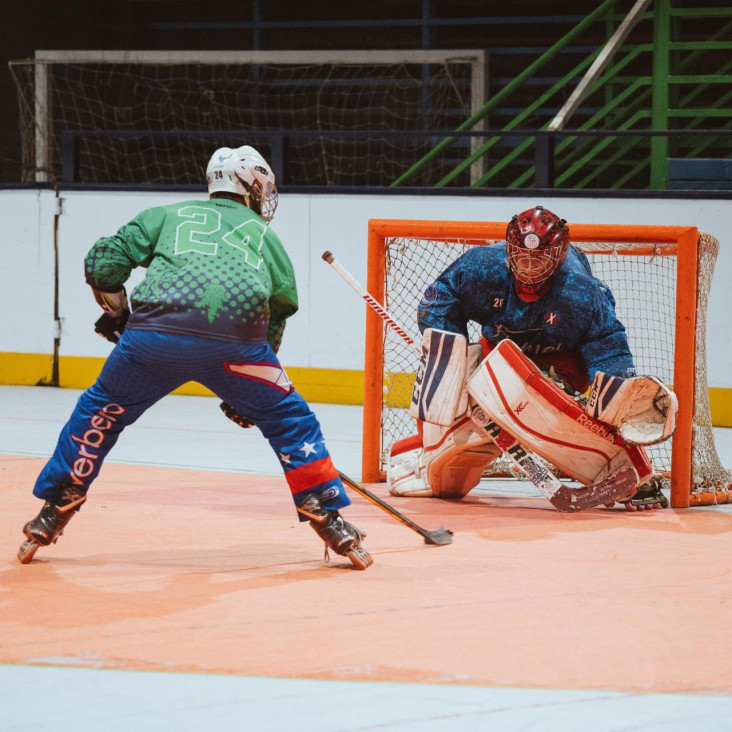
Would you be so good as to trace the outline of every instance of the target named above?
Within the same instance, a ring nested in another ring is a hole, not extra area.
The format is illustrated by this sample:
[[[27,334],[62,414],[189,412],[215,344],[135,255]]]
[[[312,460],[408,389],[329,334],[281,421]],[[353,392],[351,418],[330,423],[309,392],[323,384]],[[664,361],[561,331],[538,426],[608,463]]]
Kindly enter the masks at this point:
[[[517,481],[459,502],[370,485],[454,542],[350,491],[359,572],[324,563],[256,430],[168,397],[21,565],[77,395],[0,388],[2,732],[732,729],[732,507],[568,515]],[[358,479],[358,408],[314,408]]]

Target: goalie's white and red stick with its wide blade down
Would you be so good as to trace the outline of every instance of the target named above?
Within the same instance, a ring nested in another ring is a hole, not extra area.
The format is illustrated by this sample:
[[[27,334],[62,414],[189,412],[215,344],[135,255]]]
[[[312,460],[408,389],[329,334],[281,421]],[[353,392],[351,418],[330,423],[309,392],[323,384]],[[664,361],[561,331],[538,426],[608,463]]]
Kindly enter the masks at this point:
[[[369,307],[410,346],[421,358],[422,351],[394,318],[364,289],[331,252],[323,252],[323,260],[366,301]],[[574,513],[594,508],[602,503],[614,502],[630,492],[636,483],[635,472],[623,470],[598,483],[583,488],[568,488],[559,478],[547,470],[536,454],[524,447],[513,435],[489,419],[482,410],[474,409],[471,417],[476,426],[486,431],[508,460],[515,465],[558,510]]]

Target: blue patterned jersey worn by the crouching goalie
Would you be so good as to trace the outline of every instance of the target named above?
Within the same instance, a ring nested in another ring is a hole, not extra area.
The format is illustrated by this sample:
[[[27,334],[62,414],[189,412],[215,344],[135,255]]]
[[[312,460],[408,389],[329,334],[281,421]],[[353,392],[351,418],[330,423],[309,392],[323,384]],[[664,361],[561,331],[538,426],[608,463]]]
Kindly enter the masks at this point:
[[[575,247],[534,302],[525,302],[514,289],[505,242],[473,247],[427,288],[418,320],[420,331],[437,328],[466,337],[468,322],[475,321],[489,344],[509,338],[538,363],[579,357],[590,381],[596,371],[635,373],[613,294]]]

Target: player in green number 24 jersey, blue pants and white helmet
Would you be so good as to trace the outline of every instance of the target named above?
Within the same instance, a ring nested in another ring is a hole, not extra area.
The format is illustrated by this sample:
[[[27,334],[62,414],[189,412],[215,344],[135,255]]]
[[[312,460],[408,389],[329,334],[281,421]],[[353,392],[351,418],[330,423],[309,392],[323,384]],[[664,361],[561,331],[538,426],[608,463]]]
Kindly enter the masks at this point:
[[[301,521],[358,569],[372,559],[339,509],[350,504],[320,429],[277,359],[297,311],[292,263],[269,222],[274,174],[252,147],[221,148],[206,170],[208,200],[148,209],[85,259],[103,309],[95,330],[116,346],[41,471],[44,501],[23,531],[21,562],[55,542],[86,500],[122,430],[188,381],[222,400],[227,416],[260,428],[278,456]],[[147,269],[128,306],[124,283]]]

